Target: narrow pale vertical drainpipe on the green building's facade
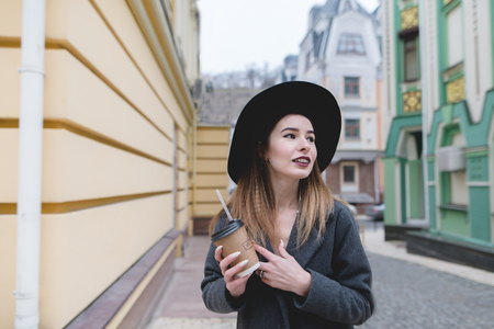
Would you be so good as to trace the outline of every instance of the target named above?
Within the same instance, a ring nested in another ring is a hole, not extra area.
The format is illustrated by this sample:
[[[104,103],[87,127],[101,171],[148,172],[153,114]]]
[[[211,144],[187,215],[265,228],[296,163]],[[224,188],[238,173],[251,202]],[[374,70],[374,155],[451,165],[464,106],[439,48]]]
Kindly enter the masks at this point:
[[[422,166],[424,173],[424,219],[429,222],[429,185],[428,185],[428,166],[427,166],[427,98],[428,83],[427,75],[427,53],[426,53],[426,1],[418,1],[418,37],[420,42],[420,101],[422,101]]]

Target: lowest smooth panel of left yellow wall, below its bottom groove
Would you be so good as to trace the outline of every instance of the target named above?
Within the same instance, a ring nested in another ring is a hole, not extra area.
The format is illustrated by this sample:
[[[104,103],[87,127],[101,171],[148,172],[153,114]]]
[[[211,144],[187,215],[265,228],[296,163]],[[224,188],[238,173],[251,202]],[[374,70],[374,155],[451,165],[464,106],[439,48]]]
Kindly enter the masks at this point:
[[[43,215],[41,324],[61,328],[172,228],[172,195]],[[131,263],[128,263],[131,261]]]

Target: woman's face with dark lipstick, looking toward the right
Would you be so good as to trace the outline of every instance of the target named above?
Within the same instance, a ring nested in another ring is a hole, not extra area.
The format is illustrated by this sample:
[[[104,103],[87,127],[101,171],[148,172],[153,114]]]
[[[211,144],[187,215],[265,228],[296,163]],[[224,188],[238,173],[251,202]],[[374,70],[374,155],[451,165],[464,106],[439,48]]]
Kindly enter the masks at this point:
[[[300,114],[283,116],[269,135],[265,158],[273,179],[304,179],[317,158],[311,121]]]

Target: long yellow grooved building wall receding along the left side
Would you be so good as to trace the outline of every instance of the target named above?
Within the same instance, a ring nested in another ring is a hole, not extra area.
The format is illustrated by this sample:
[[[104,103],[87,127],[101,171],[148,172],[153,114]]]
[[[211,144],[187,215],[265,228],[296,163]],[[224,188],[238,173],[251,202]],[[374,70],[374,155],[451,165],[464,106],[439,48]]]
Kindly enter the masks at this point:
[[[0,328],[14,320],[21,18],[0,1]],[[47,0],[44,81],[40,328],[61,328],[187,227],[195,118],[125,0]]]

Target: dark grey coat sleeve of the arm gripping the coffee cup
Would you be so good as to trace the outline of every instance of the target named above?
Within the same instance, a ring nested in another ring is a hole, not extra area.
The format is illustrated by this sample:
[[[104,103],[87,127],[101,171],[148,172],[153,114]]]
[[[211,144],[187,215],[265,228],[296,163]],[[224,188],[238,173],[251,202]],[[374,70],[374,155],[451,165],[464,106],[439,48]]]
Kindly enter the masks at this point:
[[[217,222],[215,231],[225,224],[224,218]],[[202,299],[209,310],[222,314],[238,311],[245,307],[245,294],[238,298],[232,297],[220,265],[214,259],[215,250],[216,247],[211,243],[204,264],[204,279],[201,282]]]

